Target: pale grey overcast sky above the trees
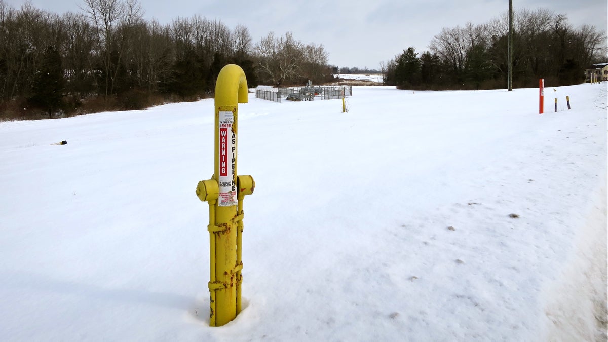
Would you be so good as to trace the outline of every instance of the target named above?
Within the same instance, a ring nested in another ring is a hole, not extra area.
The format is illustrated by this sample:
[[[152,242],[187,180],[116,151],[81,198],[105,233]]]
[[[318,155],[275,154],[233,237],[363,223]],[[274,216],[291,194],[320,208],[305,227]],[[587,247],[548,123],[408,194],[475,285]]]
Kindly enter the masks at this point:
[[[4,0],[20,7],[24,0]],[[81,12],[82,0],[32,0],[54,13]],[[330,64],[379,69],[409,46],[421,53],[442,27],[483,24],[508,10],[508,0],[140,0],[145,18],[171,23],[195,14],[220,19],[230,29],[249,28],[254,43],[270,31],[287,31],[303,43],[323,44]],[[544,7],[565,13],[575,27],[590,24],[607,30],[606,0],[513,0],[514,9]]]

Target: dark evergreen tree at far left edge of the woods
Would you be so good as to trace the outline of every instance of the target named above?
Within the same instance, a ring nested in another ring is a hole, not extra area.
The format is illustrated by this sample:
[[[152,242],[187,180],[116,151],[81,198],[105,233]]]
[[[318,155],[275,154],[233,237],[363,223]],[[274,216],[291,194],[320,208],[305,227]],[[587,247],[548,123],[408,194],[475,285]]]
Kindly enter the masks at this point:
[[[33,85],[33,96],[29,102],[49,114],[61,108],[63,99],[64,75],[61,67],[61,55],[54,46],[44,50],[42,62]]]

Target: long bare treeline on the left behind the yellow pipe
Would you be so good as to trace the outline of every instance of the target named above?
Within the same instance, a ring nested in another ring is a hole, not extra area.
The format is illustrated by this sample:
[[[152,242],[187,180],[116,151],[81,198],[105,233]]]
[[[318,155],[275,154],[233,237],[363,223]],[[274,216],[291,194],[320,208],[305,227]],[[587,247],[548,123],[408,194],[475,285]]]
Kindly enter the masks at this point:
[[[211,96],[228,63],[250,87],[321,83],[331,77],[322,44],[290,32],[254,43],[199,15],[171,24],[145,21],[138,0],[83,0],[80,13],[57,15],[0,0],[0,116],[140,109]]]

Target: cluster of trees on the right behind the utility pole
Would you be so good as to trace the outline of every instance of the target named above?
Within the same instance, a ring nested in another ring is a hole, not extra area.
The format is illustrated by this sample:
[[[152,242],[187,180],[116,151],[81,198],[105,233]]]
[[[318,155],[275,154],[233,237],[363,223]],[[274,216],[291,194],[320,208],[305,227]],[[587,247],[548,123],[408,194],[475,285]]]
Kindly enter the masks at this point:
[[[413,89],[506,88],[508,13],[489,23],[442,29],[418,55],[409,47],[381,63],[387,85]],[[572,27],[551,10],[518,10],[513,24],[513,86],[533,87],[584,81],[584,69],[606,58],[606,32]],[[606,61],[606,60],[603,60]]]

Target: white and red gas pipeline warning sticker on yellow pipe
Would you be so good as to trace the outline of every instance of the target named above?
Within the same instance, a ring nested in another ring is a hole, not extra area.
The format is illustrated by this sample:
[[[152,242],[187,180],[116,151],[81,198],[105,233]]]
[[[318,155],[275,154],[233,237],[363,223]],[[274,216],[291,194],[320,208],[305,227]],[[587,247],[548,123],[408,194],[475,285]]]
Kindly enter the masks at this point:
[[[234,170],[237,166],[237,134],[232,130],[234,114],[219,112],[219,198],[218,206],[237,204],[237,184]]]

